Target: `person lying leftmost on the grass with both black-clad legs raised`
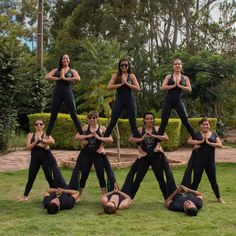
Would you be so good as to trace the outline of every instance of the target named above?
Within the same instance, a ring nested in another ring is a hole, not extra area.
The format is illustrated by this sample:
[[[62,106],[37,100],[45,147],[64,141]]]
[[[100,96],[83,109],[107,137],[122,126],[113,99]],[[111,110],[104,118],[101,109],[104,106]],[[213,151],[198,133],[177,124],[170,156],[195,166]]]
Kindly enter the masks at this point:
[[[67,185],[52,155],[48,156],[50,167],[53,171],[55,188],[50,188],[44,193],[43,206],[48,214],[56,214],[59,210],[71,209],[80,200],[79,169],[80,159],[77,158],[76,165]]]

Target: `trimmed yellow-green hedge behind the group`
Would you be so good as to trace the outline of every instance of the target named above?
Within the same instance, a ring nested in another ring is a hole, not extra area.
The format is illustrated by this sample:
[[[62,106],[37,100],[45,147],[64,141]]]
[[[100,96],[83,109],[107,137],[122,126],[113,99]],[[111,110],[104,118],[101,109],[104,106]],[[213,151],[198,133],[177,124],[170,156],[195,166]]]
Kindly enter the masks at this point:
[[[43,119],[45,122],[45,126],[47,127],[50,113],[36,113],[28,115],[29,118],[29,126],[31,132],[34,130],[34,122],[36,119]],[[80,122],[83,124],[87,121],[86,115],[78,115]],[[198,130],[198,121],[201,118],[190,118],[190,122],[193,125],[195,130]],[[160,124],[160,119],[155,119],[155,125]],[[213,130],[216,126],[216,119],[210,118],[211,127]],[[99,124],[107,126],[108,125],[107,118],[99,118]],[[143,126],[143,119],[137,118],[136,119],[137,126]],[[119,119],[118,120],[118,127],[121,136],[121,147],[136,147],[135,144],[132,144],[128,141],[128,138],[131,135],[131,130],[129,126],[129,120],[127,119]],[[189,134],[186,128],[182,125],[180,119],[169,119],[168,126],[166,127],[166,133],[169,136],[168,142],[162,142],[162,146],[164,150],[175,150],[176,148],[183,146],[186,144]],[[73,124],[73,121],[68,114],[59,113],[57,120],[54,125],[54,129],[52,131],[52,136],[55,139],[55,144],[51,147],[54,149],[69,149],[69,150],[78,150],[81,148],[81,145],[78,141],[74,140],[74,136],[76,134],[76,130]],[[114,142],[107,145],[107,147],[116,147],[116,135],[113,131],[112,137]]]

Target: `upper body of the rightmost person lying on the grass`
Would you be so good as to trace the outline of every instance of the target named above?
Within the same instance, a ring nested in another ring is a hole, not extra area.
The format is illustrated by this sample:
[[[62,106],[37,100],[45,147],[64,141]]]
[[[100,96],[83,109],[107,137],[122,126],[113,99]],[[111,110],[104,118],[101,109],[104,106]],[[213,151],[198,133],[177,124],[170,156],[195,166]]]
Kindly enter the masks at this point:
[[[165,205],[170,211],[182,211],[188,216],[197,216],[202,204],[202,194],[183,185],[165,200]]]

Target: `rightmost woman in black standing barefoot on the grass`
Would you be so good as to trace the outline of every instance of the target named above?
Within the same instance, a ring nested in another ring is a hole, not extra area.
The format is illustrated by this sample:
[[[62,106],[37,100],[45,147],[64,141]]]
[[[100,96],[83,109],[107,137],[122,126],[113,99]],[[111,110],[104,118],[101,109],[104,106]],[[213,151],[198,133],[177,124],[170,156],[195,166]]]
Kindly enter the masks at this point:
[[[216,181],[215,149],[222,148],[220,138],[215,132],[210,130],[210,122],[204,117],[199,121],[200,132],[195,134],[195,140],[189,138],[188,144],[194,145],[196,149],[193,158],[194,177],[192,189],[197,190],[201,182],[203,171],[211,183],[211,188],[215,193],[217,201],[224,203],[220,196],[219,186]]]

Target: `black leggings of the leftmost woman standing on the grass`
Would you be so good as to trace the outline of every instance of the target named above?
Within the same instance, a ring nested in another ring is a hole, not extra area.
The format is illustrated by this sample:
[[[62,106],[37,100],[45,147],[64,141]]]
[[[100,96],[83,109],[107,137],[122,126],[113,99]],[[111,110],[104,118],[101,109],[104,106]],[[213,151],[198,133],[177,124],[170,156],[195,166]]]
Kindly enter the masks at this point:
[[[48,181],[50,188],[54,187],[54,182],[53,182],[53,178],[52,178],[52,170],[49,167],[48,160],[47,160],[47,154],[46,154],[46,150],[45,150],[45,152],[41,156],[31,155],[29,172],[28,172],[28,181],[25,186],[24,196],[29,195],[29,192],[33,187],[34,181],[35,181],[38,171],[40,169],[40,166],[42,166],[42,168],[43,168],[45,178]]]

